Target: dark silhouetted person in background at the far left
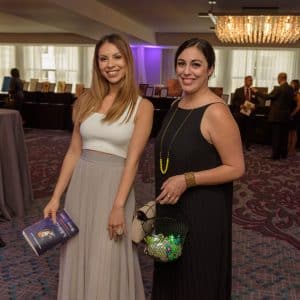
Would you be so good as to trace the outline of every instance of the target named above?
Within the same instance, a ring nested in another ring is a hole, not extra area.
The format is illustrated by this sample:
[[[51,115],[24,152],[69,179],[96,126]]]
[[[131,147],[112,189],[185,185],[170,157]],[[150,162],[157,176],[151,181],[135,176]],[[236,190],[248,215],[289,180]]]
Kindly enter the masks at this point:
[[[17,68],[10,70],[11,80],[9,83],[8,94],[14,101],[14,109],[22,112],[24,93],[23,93],[23,81],[20,79],[20,72]]]

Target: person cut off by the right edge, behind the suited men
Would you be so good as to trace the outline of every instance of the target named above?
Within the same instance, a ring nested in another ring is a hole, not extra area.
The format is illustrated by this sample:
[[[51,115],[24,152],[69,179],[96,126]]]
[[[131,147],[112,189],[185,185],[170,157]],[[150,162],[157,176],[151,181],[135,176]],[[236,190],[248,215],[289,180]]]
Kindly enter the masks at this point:
[[[300,92],[299,80],[293,79],[291,86],[294,89],[294,102],[289,121],[288,155],[296,155],[297,134],[300,128]]]

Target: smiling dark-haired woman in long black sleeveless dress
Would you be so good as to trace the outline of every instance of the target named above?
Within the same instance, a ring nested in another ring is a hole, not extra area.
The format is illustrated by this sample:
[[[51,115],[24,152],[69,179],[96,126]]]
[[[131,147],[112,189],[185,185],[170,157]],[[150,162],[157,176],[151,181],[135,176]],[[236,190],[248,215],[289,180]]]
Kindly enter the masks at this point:
[[[211,45],[197,38],[175,55],[184,96],[156,139],[157,216],[180,216],[189,232],[178,260],[155,262],[153,300],[230,299],[232,181],[244,158],[227,105],[208,88],[214,63]]]

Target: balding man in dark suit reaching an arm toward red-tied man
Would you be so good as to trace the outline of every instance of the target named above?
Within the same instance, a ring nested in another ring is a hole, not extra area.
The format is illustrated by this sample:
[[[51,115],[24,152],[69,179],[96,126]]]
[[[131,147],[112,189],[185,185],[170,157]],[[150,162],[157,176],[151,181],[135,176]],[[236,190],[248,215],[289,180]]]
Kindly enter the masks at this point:
[[[268,121],[272,127],[271,159],[287,158],[288,121],[293,104],[293,88],[287,83],[287,74],[278,74],[279,87],[274,87],[270,94],[264,95],[255,91],[259,96],[271,100]]]

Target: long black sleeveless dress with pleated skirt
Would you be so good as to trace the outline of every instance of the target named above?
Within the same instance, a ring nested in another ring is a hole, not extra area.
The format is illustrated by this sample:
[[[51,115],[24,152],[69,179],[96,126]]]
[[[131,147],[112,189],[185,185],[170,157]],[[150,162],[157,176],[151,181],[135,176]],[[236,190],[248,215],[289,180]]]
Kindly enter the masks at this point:
[[[214,105],[214,104],[209,104]],[[203,114],[209,105],[188,109],[178,108],[163,139],[164,166],[170,142],[168,171],[159,168],[161,137],[178,102],[168,112],[155,142],[156,195],[170,176],[207,170],[221,164],[213,145],[200,132]],[[157,205],[157,216],[181,215],[189,232],[183,254],[175,262],[154,263],[152,300],[226,300],[231,293],[231,221],[232,182],[211,186],[196,186],[186,190],[176,205]]]

